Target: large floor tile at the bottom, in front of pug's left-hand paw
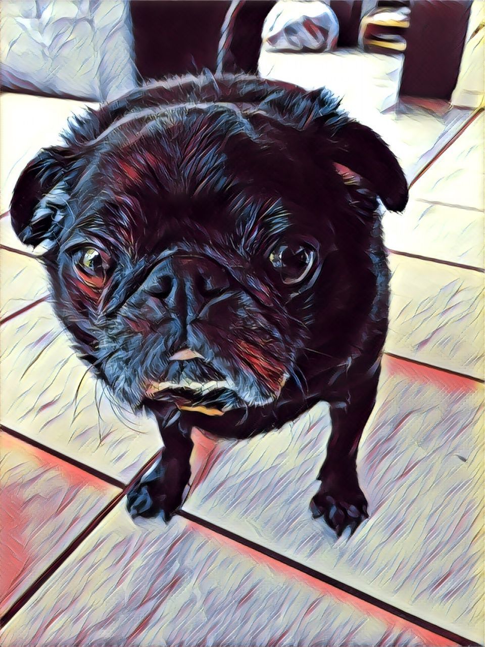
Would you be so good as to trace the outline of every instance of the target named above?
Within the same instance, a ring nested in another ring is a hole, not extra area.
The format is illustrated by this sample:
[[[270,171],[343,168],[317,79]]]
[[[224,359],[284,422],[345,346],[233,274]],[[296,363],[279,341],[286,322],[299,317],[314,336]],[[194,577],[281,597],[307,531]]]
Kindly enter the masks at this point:
[[[119,505],[6,625],[4,647],[453,644],[180,517]]]

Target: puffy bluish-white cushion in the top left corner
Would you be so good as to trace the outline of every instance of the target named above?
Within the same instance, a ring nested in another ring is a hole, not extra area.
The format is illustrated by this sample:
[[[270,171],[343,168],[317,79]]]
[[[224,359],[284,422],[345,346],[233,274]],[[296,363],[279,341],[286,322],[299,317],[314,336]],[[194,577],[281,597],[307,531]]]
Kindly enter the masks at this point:
[[[122,0],[3,0],[1,34],[4,87],[98,100],[135,85]]]

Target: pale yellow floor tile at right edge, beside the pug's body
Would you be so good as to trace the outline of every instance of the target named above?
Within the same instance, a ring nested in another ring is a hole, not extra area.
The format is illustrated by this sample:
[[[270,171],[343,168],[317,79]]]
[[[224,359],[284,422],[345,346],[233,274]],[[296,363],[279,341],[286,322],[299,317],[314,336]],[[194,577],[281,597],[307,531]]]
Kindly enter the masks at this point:
[[[484,275],[391,254],[389,353],[483,378]]]

